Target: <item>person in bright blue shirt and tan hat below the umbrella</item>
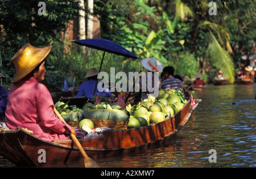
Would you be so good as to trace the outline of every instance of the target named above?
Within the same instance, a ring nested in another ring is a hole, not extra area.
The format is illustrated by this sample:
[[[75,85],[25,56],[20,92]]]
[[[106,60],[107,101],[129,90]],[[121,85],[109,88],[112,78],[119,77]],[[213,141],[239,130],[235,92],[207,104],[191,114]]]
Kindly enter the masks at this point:
[[[77,92],[76,96],[86,96],[86,97],[88,97],[88,99],[92,99],[92,97],[94,95],[102,95],[104,97],[111,97],[110,90],[106,89],[106,88],[104,88],[103,92],[99,92],[98,88],[96,87],[96,91],[94,93],[96,83],[97,83],[97,86],[98,86],[98,83],[100,83],[97,81],[97,75],[98,75],[98,71],[96,70],[96,68],[88,69],[86,72],[86,75],[84,76],[84,78],[87,78],[87,80],[86,80],[86,82],[84,82],[80,85],[79,91]]]

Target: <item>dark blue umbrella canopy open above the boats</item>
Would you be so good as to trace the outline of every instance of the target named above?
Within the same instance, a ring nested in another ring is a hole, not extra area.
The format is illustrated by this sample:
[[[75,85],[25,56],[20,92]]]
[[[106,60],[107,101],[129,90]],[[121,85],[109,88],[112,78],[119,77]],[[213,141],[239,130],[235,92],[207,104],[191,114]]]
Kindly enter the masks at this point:
[[[135,56],[135,54],[131,53],[129,50],[126,50],[121,45],[107,39],[85,39],[76,40],[73,42],[79,45],[84,45],[90,48],[102,50],[104,52],[114,53],[119,56],[124,56],[128,58],[138,58],[137,56]]]

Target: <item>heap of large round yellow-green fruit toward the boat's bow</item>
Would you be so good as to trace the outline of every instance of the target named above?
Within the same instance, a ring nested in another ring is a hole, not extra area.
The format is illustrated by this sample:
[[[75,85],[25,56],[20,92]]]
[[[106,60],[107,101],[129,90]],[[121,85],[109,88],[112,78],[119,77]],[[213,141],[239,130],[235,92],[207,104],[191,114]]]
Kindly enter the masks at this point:
[[[162,122],[179,112],[187,103],[180,90],[160,90],[158,97],[148,96],[138,105],[126,105],[130,112],[127,128],[137,128]]]

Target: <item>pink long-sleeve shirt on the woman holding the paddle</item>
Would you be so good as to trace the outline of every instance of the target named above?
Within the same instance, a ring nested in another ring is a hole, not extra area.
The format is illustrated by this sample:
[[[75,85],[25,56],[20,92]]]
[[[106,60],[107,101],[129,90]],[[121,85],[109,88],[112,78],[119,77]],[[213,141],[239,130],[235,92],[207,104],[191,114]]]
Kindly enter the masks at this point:
[[[71,126],[61,121],[53,111],[51,94],[34,77],[11,85],[6,106],[7,127],[27,128],[44,140],[65,140]]]

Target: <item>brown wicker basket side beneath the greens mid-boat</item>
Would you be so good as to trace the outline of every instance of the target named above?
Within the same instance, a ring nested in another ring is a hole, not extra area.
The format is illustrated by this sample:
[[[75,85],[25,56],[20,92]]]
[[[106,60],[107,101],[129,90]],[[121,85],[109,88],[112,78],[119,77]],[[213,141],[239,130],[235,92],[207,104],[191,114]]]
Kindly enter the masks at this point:
[[[109,127],[113,130],[127,129],[127,125],[129,123],[129,120],[127,120],[127,121],[106,121],[106,120],[94,120],[92,118],[90,118],[90,120],[93,121],[94,127]]]

